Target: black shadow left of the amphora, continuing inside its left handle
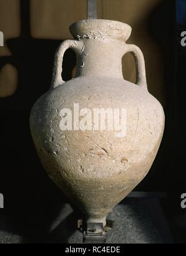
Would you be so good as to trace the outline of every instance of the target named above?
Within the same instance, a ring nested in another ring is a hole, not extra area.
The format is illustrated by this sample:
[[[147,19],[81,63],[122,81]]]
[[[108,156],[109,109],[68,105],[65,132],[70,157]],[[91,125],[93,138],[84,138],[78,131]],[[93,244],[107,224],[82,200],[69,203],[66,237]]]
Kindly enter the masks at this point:
[[[18,73],[14,95],[0,98],[0,192],[5,200],[1,213],[9,217],[15,232],[37,239],[48,232],[63,202],[67,201],[43,170],[29,128],[33,103],[50,88],[53,57],[61,40],[33,39],[29,30],[29,1],[22,0],[20,7],[20,37],[6,42],[12,56],[0,57],[0,69],[11,65]],[[64,80],[71,78],[75,64],[76,56],[68,50],[64,55],[64,65],[68,67],[63,72]],[[14,232],[12,228],[11,231]]]

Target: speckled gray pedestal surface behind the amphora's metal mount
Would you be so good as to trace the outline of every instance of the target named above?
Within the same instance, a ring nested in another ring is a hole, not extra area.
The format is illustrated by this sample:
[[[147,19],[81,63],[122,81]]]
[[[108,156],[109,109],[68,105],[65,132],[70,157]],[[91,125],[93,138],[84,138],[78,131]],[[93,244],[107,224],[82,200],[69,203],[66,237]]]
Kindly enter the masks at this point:
[[[107,243],[161,244],[172,242],[169,227],[159,209],[158,201],[151,199],[142,204],[136,201],[133,204],[118,204],[108,215],[108,219],[115,221],[115,228],[107,233]],[[82,233],[76,230],[77,218],[71,206],[64,204],[58,217],[53,220],[49,234],[37,242],[81,244]],[[36,242],[28,240],[23,235],[8,232],[8,225],[6,219],[0,220],[1,244]]]

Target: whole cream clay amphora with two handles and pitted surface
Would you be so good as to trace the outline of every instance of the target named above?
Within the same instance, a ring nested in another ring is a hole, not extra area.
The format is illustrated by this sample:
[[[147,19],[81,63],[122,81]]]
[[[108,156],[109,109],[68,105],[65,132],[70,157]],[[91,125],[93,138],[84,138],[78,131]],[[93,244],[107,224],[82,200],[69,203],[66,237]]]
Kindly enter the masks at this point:
[[[104,221],[151,168],[164,131],[164,111],[146,88],[143,54],[125,43],[130,26],[90,20],[73,24],[71,31],[79,39],[72,43],[76,78],[52,86],[35,103],[30,128],[50,178],[89,221]],[[100,36],[87,36],[91,34]],[[138,64],[138,85],[123,80],[122,56],[128,51]],[[79,110],[126,108],[126,136],[117,138],[114,130],[62,131],[60,111],[73,111],[74,103]]]

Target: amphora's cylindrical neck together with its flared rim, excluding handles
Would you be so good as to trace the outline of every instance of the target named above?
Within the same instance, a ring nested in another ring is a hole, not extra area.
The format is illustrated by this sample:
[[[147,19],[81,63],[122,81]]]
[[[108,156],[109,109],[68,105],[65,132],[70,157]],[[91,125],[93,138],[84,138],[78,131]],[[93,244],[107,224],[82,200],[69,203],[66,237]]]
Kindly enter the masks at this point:
[[[130,26],[123,22],[95,19],[75,22],[69,30],[82,46],[76,77],[123,78],[123,49],[131,34]]]

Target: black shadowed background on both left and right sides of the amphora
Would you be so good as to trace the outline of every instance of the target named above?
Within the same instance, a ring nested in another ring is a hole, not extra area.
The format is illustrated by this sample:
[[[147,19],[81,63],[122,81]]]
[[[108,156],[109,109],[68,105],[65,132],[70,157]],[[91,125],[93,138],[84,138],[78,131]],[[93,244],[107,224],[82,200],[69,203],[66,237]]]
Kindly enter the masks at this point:
[[[0,192],[5,199],[0,217],[7,217],[11,231],[40,240],[68,199],[50,181],[40,164],[30,136],[29,115],[33,103],[50,88],[53,56],[61,40],[30,36],[29,1],[21,1],[21,23],[20,37],[7,41],[12,56],[0,57],[0,69],[8,62],[17,67],[19,75],[15,94],[0,98]],[[146,191],[147,197],[151,197],[149,192],[159,192],[157,197],[160,197],[174,241],[186,242],[186,212],[180,208],[180,196],[186,192],[186,47],[180,46],[180,32],[186,31],[185,1],[164,1],[154,11],[149,29],[166,55],[166,130],[151,171],[135,191]],[[50,54],[46,54],[48,49]],[[64,55],[64,80],[71,78],[75,65],[76,57],[68,50]]]

